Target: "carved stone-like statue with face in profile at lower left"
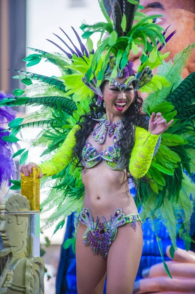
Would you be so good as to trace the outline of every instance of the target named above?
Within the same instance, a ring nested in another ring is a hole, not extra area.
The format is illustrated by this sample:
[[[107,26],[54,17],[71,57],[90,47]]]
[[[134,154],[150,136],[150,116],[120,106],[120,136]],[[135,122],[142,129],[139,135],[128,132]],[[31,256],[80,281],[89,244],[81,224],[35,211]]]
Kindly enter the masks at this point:
[[[0,232],[8,256],[0,276],[0,294],[43,294],[44,264],[30,257],[30,204],[25,196],[9,194],[0,205]]]

